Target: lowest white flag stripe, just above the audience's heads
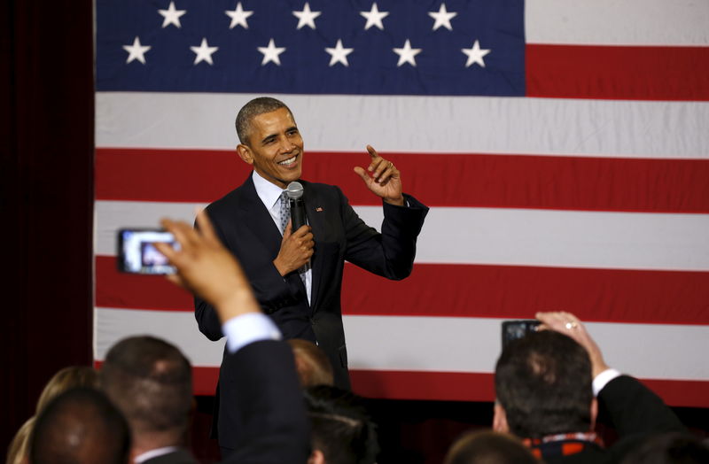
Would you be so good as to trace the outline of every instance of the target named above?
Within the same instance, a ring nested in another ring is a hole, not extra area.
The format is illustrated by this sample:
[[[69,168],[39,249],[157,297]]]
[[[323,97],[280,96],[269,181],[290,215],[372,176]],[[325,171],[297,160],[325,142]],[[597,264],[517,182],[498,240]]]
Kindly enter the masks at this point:
[[[150,334],[178,346],[195,366],[216,367],[223,340],[209,342],[193,314],[96,308],[96,360],[125,336]],[[493,372],[501,347],[501,319],[344,316],[351,369]],[[588,323],[612,367],[643,378],[709,380],[709,327]],[[643,341],[647,343],[643,343]],[[662,343],[658,343],[661,341]],[[629,346],[632,344],[632,346]],[[637,349],[642,344],[643,349]],[[669,347],[669,348],[668,348]]]

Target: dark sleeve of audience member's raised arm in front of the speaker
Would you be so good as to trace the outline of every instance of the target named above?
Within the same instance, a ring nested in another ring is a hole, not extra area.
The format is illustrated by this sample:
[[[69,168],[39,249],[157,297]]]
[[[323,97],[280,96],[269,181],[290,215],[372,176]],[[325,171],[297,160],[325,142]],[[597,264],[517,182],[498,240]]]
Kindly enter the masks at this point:
[[[227,463],[302,463],[308,460],[310,426],[292,351],[280,341],[248,344],[225,360],[236,399],[232,421],[243,424]],[[226,437],[220,437],[220,440]]]

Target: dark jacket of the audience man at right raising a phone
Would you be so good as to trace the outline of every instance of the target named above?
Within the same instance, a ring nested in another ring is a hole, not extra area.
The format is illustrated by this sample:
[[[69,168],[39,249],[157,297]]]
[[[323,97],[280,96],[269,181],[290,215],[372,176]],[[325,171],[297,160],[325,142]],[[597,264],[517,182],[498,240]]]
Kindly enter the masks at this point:
[[[590,464],[620,462],[652,434],[686,432],[684,425],[655,393],[635,378],[621,375],[598,393],[599,411],[608,414],[618,432],[618,441],[609,448],[591,445],[569,456],[543,455],[548,464]]]

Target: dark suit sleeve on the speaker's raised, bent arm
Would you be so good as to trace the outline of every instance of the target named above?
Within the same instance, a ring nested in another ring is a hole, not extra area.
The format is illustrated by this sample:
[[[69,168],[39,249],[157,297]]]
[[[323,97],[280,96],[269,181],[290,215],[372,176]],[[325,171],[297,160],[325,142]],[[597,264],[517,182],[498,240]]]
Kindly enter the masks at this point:
[[[384,221],[379,234],[354,213],[341,191],[339,194],[347,235],[345,259],[387,279],[408,277],[414,266],[417,236],[424,225],[428,207],[409,195],[404,195],[408,206],[383,202]]]

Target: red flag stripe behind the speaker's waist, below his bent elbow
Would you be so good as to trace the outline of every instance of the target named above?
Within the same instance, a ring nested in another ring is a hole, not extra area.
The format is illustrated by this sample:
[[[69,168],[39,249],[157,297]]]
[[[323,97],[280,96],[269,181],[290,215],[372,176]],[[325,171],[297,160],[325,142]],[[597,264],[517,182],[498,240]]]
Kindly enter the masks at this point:
[[[582,321],[709,324],[709,272],[417,264],[401,282],[349,264],[345,272],[350,315],[528,319],[565,309]],[[96,279],[101,307],[193,311],[187,292],[121,274],[113,257],[97,256]]]

